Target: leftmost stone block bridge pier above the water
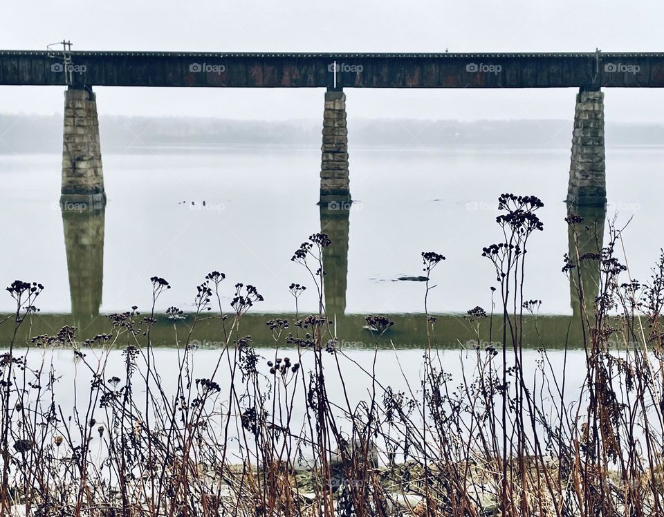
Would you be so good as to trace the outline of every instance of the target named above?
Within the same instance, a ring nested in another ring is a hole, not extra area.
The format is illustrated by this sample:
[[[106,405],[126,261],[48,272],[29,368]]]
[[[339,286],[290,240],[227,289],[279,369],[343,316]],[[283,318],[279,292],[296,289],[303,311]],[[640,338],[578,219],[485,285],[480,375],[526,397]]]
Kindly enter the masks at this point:
[[[69,86],[64,93],[62,191],[60,203],[106,204],[97,102],[91,88]]]

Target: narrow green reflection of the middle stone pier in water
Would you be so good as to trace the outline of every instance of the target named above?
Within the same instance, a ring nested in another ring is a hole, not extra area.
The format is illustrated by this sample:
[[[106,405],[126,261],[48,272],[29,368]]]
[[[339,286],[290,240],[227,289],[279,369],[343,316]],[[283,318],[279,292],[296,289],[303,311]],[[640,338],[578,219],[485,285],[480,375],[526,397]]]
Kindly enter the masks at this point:
[[[323,251],[325,310],[331,318],[346,312],[349,207],[349,203],[320,205],[320,231],[332,241]]]

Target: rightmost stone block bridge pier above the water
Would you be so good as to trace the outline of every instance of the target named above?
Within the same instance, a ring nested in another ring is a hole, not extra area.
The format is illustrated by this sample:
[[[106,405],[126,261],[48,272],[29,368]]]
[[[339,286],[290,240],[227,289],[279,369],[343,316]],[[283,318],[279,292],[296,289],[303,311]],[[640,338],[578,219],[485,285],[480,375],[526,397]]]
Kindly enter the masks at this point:
[[[607,202],[604,93],[599,88],[580,88],[576,96],[567,201],[578,205]]]

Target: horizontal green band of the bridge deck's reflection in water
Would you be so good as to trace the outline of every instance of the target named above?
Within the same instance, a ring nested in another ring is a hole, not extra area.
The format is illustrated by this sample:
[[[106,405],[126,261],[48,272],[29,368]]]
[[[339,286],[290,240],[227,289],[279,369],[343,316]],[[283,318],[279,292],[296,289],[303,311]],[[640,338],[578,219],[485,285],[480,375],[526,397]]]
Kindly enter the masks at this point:
[[[6,314],[0,314],[3,319]],[[303,317],[300,314],[299,317]],[[427,346],[427,317],[425,314],[388,314],[389,319],[394,321],[392,326],[378,340],[379,348],[425,348]],[[432,337],[432,346],[438,348],[461,348],[472,349],[473,343],[477,344],[477,337],[470,323],[463,317],[463,314],[434,314],[436,324],[434,328],[434,337]],[[232,339],[250,335],[254,346],[273,347],[274,339],[272,332],[266,326],[266,321],[270,319],[286,319],[291,323],[285,335],[280,339],[280,346],[284,345],[284,337],[288,332],[296,330],[295,314],[257,314],[248,313],[242,317],[239,335],[234,335]],[[138,320],[142,316],[138,317]],[[156,323],[151,330],[151,342],[153,346],[170,347],[175,346],[175,333],[173,322],[166,318],[165,314],[156,316]],[[178,323],[178,336],[182,339],[186,335],[185,326],[192,321],[192,317],[187,317],[182,323]],[[22,332],[17,339],[17,345],[25,345],[27,336],[26,330],[30,328],[31,335],[52,335],[65,325],[73,325],[79,328],[77,339],[82,341],[86,338],[94,337],[98,334],[111,332],[111,323],[106,317],[100,316],[86,321],[81,321],[71,314],[35,314],[33,315],[30,326],[23,326]],[[374,348],[376,339],[371,332],[365,328],[365,314],[347,314],[342,317],[336,317],[336,332],[340,348]],[[492,341],[498,341],[501,337],[502,319],[501,316],[493,318],[493,334],[489,335],[488,329],[490,321],[486,319],[481,324],[481,348],[486,347]],[[228,328],[228,327],[227,327]],[[0,326],[0,339],[8,343],[12,328],[7,324]],[[303,335],[302,330],[299,330]],[[192,339],[200,346],[208,348],[221,348],[224,342],[224,333],[221,321],[219,319],[207,319],[196,323],[196,329]],[[540,340],[540,336],[542,339]],[[145,337],[138,335],[139,343],[145,344]],[[471,342],[473,341],[473,342]],[[122,344],[127,344],[127,340],[120,340]],[[524,316],[524,347],[538,348],[562,348],[565,343],[570,348],[582,348],[581,325],[578,318],[572,316]],[[183,342],[180,343],[183,345]],[[493,342],[495,346],[497,345]]]

